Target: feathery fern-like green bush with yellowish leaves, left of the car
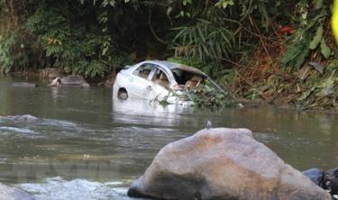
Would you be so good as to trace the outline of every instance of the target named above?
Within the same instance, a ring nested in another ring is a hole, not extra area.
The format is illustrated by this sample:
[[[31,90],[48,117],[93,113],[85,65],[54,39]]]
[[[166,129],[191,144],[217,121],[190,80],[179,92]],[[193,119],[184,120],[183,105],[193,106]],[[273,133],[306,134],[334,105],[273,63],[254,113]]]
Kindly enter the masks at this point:
[[[107,53],[103,36],[82,24],[85,22],[78,19],[80,16],[69,19],[67,13],[62,13],[63,8],[47,9],[47,6],[41,5],[25,24],[27,32],[38,36],[46,57],[56,59],[55,66],[72,73],[85,77],[104,76],[109,68],[102,62]],[[81,14],[88,17],[86,11]],[[73,20],[78,23],[73,24]]]

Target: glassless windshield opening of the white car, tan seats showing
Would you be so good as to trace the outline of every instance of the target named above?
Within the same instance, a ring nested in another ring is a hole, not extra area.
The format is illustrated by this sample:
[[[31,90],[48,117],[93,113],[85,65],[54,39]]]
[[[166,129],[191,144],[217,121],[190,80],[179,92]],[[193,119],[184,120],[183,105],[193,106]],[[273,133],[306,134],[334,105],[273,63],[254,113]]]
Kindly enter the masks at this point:
[[[180,68],[171,69],[171,71],[179,86],[199,86],[205,82],[205,77],[190,71]]]

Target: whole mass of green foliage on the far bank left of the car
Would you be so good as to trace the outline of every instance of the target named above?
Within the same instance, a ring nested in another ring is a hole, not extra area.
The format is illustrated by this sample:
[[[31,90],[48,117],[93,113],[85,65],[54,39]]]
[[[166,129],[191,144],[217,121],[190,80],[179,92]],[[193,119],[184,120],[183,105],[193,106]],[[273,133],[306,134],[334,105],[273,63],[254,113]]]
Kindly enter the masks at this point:
[[[0,65],[6,72],[52,66],[85,77],[102,77],[130,62],[107,31],[106,9],[81,3],[32,1],[33,12],[23,28],[15,35],[1,35]]]

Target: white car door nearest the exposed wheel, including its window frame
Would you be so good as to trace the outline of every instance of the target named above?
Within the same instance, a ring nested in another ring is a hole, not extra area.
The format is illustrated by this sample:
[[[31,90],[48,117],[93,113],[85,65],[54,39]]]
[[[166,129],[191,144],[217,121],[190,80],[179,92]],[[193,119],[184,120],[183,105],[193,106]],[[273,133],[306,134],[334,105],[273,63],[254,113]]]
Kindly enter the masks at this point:
[[[148,91],[151,90],[151,81],[149,80],[149,77],[154,69],[155,67],[153,64],[143,63],[132,72],[128,84],[130,95],[137,98],[150,99]]]

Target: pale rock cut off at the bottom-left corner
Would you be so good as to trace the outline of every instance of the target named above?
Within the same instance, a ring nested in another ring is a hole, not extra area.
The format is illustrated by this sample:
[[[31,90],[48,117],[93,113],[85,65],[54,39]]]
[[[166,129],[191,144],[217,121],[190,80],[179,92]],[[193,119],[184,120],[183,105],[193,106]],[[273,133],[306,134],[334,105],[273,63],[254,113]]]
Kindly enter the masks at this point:
[[[0,184],[0,200],[34,200],[32,195],[29,195],[23,190],[5,186]]]

